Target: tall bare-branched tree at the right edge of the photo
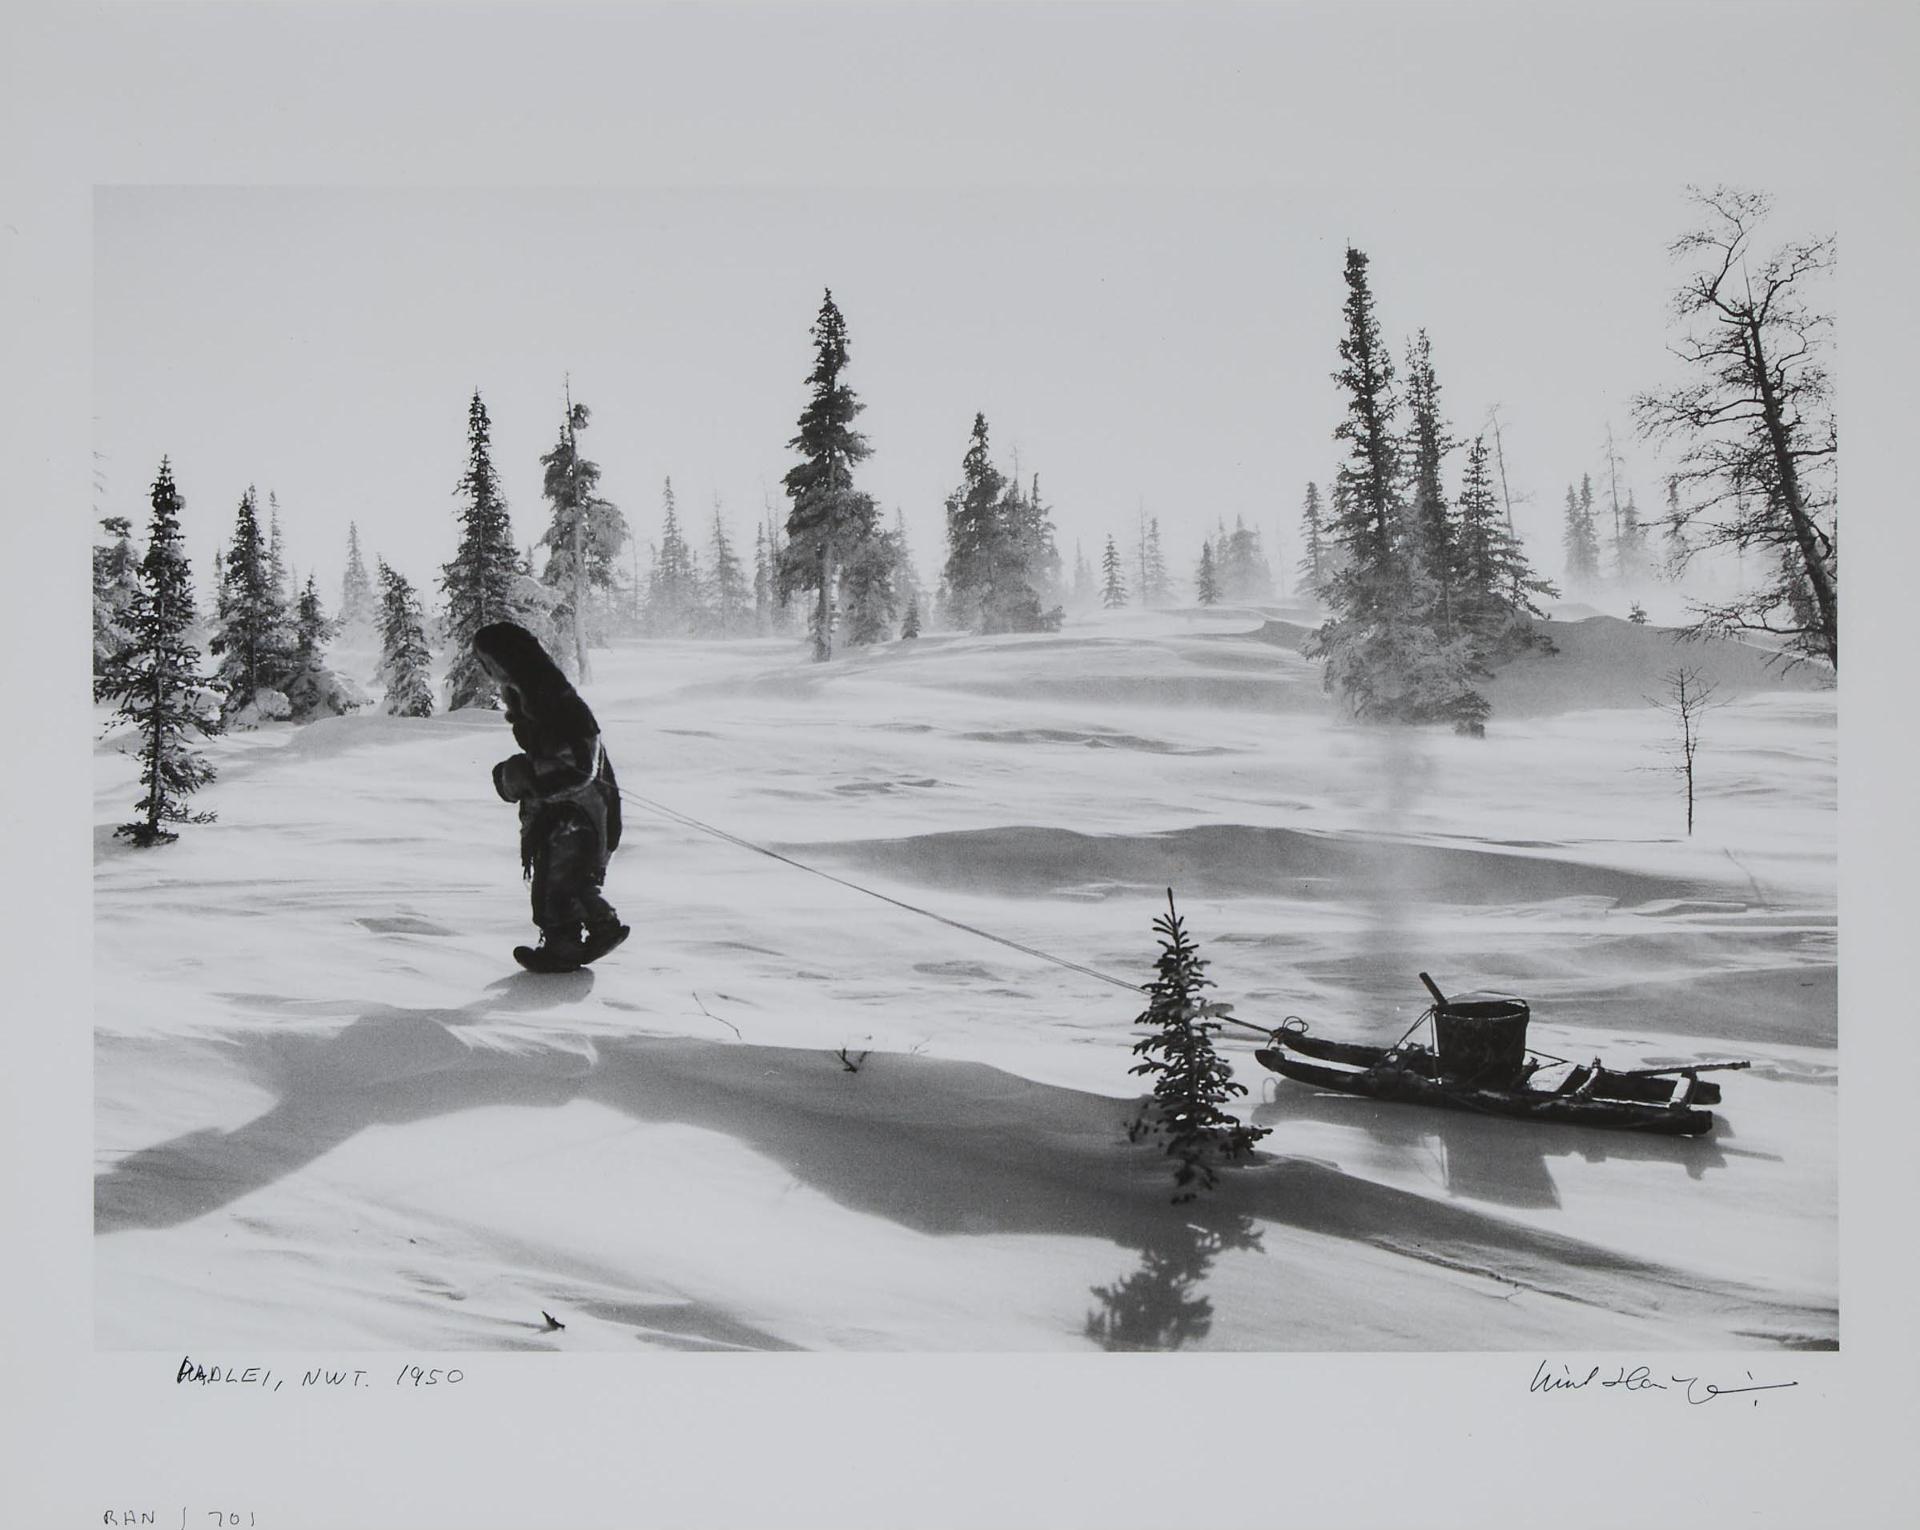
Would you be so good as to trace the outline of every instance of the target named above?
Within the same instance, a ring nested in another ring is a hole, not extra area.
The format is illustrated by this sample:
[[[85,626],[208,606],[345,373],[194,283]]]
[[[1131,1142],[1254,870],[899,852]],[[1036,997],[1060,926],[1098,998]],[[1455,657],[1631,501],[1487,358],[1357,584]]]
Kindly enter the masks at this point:
[[[1761,192],[1693,192],[1699,228],[1670,246],[1697,261],[1674,294],[1686,338],[1674,353],[1692,380],[1634,399],[1642,436],[1684,443],[1668,536],[1701,547],[1772,553],[1768,578],[1718,605],[1697,605],[1695,632],[1763,632],[1797,658],[1839,668],[1837,430],[1822,365],[1832,319],[1807,290],[1834,267],[1834,238],[1788,244],[1757,261],[1768,211]]]

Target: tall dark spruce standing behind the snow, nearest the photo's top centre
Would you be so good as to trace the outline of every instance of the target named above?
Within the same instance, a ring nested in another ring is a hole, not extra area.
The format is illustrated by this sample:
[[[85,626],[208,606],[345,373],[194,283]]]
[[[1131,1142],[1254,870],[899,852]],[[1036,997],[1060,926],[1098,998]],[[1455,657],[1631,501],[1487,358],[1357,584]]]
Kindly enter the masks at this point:
[[[841,568],[879,532],[872,497],[856,493],[852,470],[872,447],[852,428],[864,403],[843,380],[847,371],[847,321],[833,303],[831,288],[814,315],[814,369],[806,374],[810,394],[801,411],[799,430],[787,442],[801,461],[781,480],[791,511],[787,545],[780,551],[780,599],[812,595],[808,628],[816,660],[833,657],[833,628]]]

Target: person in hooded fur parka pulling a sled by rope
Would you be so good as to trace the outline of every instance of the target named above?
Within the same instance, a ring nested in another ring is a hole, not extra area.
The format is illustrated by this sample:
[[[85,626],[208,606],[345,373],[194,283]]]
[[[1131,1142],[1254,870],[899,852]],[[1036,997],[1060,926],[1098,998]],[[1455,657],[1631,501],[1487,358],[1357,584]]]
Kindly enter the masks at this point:
[[[628,927],[601,887],[620,845],[620,787],[599,722],[540,639],[493,622],[472,639],[474,658],[499,685],[520,753],[493,766],[493,791],[520,808],[520,872],[532,879],[540,946],[515,958],[570,971],[605,956]]]

